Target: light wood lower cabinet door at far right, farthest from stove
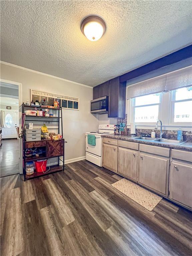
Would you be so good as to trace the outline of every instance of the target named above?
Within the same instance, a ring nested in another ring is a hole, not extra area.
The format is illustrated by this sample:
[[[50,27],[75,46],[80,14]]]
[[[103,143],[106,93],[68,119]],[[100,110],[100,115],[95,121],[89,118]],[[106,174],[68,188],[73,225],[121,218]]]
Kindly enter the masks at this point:
[[[192,209],[192,165],[171,161],[169,198]]]

